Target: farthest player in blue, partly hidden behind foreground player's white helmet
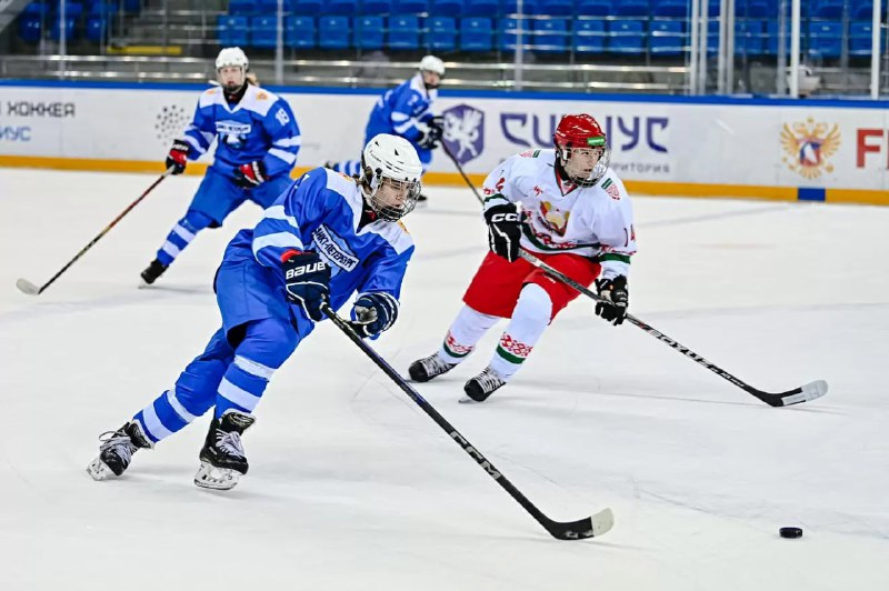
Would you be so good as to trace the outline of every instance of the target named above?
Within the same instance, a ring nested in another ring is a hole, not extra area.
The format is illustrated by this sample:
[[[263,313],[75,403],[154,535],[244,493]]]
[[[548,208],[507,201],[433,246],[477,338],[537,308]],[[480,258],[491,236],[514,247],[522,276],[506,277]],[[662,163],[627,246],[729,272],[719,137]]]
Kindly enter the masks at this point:
[[[364,141],[378,133],[391,133],[408,140],[417,150],[423,172],[432,162],[432,150],[438,148],[443,131],[440,116],[432,111],[438,98],[438,87],[444,78],[444,62],[434,56],[420,60],[419,71],[380,97],[370,112]],[[359,172],[357,160],[328,162],[328,168],[356,176]],[[426,197],[420,196],[420,201]]]

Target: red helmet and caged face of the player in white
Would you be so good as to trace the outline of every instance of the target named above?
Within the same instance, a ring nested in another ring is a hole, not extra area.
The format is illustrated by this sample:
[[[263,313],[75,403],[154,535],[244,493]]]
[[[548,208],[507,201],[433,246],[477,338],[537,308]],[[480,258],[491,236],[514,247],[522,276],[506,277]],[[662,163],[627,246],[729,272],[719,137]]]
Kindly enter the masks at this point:
[[[562,117],[552,141],[559,164],[577,184],[592,187],[608,170],[611,150],[602,128],[592,117],[586,113]]]

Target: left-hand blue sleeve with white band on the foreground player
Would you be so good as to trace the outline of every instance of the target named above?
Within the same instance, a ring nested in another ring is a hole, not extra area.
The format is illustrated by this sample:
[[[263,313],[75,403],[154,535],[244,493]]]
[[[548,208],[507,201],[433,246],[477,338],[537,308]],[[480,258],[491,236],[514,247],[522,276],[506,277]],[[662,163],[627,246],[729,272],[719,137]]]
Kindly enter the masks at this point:
[[[327,183],[323,170],[303,174],[268,208],[253,230],[253,257],[277,269],[291,251],[302,251],[303,227],[324,216]]]

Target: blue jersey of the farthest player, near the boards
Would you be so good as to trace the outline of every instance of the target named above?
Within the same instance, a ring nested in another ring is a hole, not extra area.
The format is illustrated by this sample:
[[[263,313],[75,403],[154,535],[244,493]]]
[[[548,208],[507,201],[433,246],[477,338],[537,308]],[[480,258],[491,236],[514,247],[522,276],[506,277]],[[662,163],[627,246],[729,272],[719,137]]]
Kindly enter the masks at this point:
[[[422,136],[417,123],[428,123],[432,119],[432,101],[438,90],[427,90],[422,74],[402,82],[380,97],[366,130],[368,141],[378,133],[400,136],[416,143]]]

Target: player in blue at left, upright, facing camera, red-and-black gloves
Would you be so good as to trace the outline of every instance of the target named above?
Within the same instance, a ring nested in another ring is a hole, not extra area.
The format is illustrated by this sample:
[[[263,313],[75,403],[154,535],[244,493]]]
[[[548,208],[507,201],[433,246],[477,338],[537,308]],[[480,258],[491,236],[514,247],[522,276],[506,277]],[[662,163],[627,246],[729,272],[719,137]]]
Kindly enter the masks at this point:
[[[194,119],[173,142],[167,168],[186,170],[217,140],[213,163],[184,217],[170,231],[157,257],[142,271],[153,283],[204,228],[219,228],[247,200],[271,206],[290,187],[300,133],[287,101],[248,80],[249,63],[240,48],[226,48],[216,59],[219,87],[201,94]]]

